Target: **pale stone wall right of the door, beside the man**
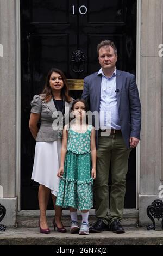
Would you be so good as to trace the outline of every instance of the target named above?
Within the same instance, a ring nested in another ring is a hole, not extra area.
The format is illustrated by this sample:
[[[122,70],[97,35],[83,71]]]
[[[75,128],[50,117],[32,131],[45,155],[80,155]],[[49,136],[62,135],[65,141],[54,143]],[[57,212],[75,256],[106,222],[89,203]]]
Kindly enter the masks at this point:
[[[139,222],[151,221],[146,208],[159,199],[162,178],[162,0],[141,1],[140,95],[142,129],[140,142]]]

